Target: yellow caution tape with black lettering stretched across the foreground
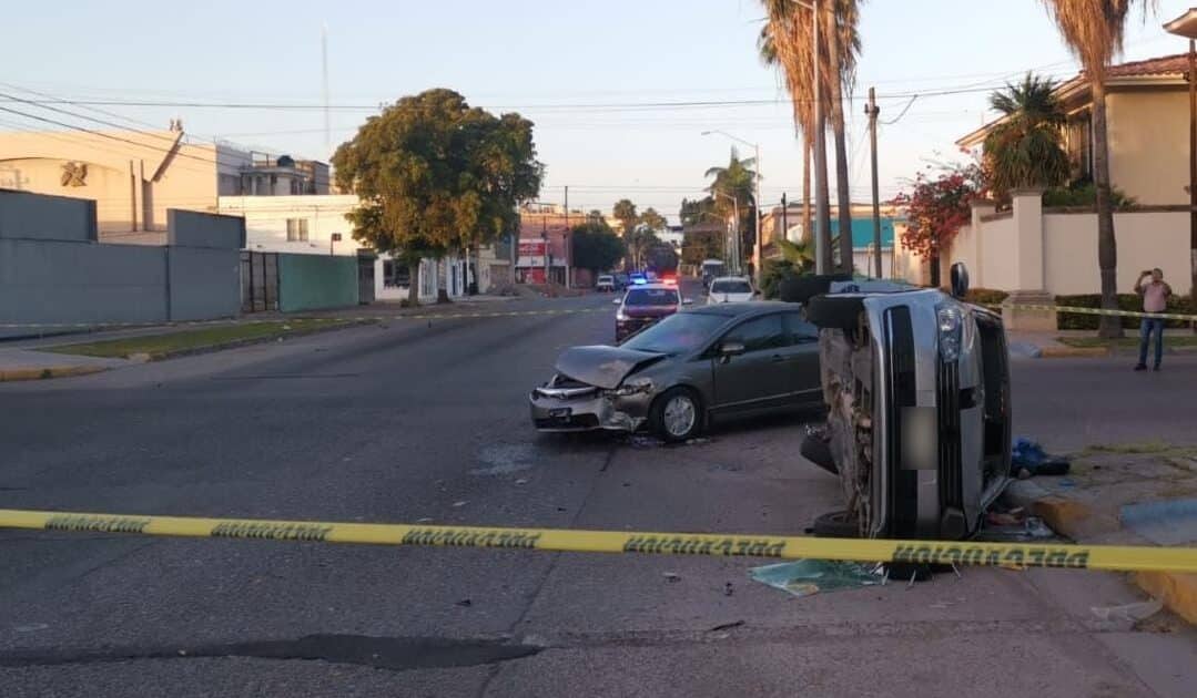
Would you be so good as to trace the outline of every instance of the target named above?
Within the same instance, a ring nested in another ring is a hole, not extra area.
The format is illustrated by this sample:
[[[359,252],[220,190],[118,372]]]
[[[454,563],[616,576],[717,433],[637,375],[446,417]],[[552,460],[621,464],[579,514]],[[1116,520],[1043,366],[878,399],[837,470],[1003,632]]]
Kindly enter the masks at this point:
[[[366,545],[1197,573],[1197,549],[1184,547],[856,540],[715,533],[340,524],[261,519],[130,516],[18,509],[0,509],[0,528]]]

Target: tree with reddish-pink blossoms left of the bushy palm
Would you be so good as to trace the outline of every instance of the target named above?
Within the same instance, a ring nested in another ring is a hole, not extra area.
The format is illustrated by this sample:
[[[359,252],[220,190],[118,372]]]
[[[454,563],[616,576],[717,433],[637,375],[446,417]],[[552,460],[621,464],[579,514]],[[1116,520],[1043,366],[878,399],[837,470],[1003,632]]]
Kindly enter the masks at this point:
[[[956,165],[937,177],[919,172],[911,191],[894,197],[894,204],[906,209],[901,243],[931,262],[931,286],[940,284],[940,251],[948,249],[960,227],[968,224],[968,203],[983,190],[980,167]]]

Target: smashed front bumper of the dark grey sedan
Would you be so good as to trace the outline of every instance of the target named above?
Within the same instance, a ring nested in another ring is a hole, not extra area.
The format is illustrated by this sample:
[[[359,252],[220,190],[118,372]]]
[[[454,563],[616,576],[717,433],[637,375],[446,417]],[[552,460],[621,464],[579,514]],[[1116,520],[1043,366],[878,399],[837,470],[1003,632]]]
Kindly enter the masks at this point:
[[[551,381],[552,382],[552,381]],[[533,424],[540,431],[636,431],[649,416],[652,396],[619,396],[595,386],[546,384],[528,397]]]

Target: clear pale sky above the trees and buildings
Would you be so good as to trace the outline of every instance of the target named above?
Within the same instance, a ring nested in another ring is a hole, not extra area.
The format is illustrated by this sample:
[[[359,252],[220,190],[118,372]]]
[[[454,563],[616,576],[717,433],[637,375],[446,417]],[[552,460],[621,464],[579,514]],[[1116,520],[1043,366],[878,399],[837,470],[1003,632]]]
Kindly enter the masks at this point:
[[[1144,23],[1135,16],[1126,57],[1185,50],[1160,24],[1186,7],[1185,0],[1163,0],[1157,17]],[[906,105],[903,94],[982,90],[919,97],[898,123],[881,128],[881,188],[892,195],[928,159],[956,157],[952,142],[985,116],[985,88],[1028,68],[1062,78],[1075,72],[1038,0],[868,0],[861,14],[864,49],[850,104],[853,198],[868,195],[858,98],[870,85],[881,96],[882,121]],[[23,2],[5,7],[0,43],[8,60],[0,81],[7,86],[0,91],[318,104],[320,32],[327,24],[334,105],[450,87],[474,104],[515,109],[535,121],[548,167],[543,200],[560,201],[570,185],[571,207],[608,209],[627,196],[674,218],[681,197],[704,186],[704,171],[727,161],[731,142],[701,136],[707,129],[760,143],[766,203],[782,191],[797,196],[801,148],[789,105],[577,105],[784,97],[757,59],[761,18],[757,0]],[[108,109],[163,128],[181,116],[193,134],[328,155],[320,110]],[[366,114],[334,110],[334,146]],[[40,128],[0,112],[0,128],[14,124]]]

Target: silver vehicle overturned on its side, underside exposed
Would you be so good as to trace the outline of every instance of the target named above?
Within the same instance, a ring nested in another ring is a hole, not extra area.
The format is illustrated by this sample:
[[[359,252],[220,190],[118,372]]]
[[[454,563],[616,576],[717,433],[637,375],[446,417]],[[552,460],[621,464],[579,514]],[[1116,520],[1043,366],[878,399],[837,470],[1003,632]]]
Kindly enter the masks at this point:
[[[801,299],[820,329],[828,410],[802,453],[839,476],[847,507],[816,534],[967,538],[1005,488],[1005,333],[1001,316],[961,300],[967,287],[955,265],[950,295],[828,280]]]

